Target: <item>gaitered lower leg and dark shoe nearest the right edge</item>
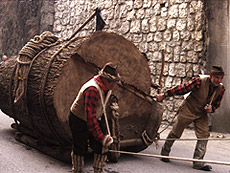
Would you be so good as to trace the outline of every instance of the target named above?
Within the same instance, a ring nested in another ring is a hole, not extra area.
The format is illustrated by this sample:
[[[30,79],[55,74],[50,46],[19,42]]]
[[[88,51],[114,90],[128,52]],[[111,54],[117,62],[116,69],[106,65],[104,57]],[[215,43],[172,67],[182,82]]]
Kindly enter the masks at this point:
[[[196,143],[195,152],[193,155],[194,159],[203,159],[206,153],[208,140],[198,140]],[[203,162],[193,162],[193,168],[199,169],[203,171],[211,171],[212,167],[210,165],[206,165]]]

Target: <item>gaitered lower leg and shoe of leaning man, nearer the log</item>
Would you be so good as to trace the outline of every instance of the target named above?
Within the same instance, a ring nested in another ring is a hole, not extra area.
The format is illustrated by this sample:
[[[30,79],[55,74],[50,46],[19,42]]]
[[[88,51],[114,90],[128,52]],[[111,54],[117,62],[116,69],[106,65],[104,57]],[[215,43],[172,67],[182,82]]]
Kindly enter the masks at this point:
[[[171,147],[172,147],[173,143],[175,142],[175,140],[171,140],[173,138],[178,138],[178,137],[176,135],[174,135],[172,132],[170,132],[168,137],[167,137],[167,139],[170,139],[170,140],[166,139],[164,146],[161,149],[161,155],[162,156],[169,156],[169,153],[171,151]],[[161,161],[170,162],[170,160],[168,158],[161,158]]]

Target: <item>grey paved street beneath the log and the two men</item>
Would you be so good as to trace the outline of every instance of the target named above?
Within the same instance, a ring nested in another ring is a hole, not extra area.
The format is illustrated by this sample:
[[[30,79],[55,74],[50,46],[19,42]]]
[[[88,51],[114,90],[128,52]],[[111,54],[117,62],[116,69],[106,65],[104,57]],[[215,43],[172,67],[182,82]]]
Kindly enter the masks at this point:
[[[55,160],[37,150],[30,148],[14,139],[14,130],[10,127],[13,119],[0,112],[0,173],[67,173],[71,172],[71,165]],[[162,133],[165,138],[169,129]],[[212,137],[216,137],[212,133]],[[224,134],[230,137],[230,134]],[[185,130],[182,138],[194,138],[192,130]],[[159,142],[160,148],[163,141]],[[230,162],[230,141],[210,141],[205,160]],[[172,148],[172,156],[192,158],[195,141],[177,141]],[[159,154],[152,144],[142,153]],[[93,173],[93,160],[88,157],[85,172]],[[213,173],[230,173],[230,166],[212,164]],[[108,163],[105,173],[198,173],[192,169],[191,162],[172,160],[170,163],[161,162],[157,158],[121,155],[118,163]]]

